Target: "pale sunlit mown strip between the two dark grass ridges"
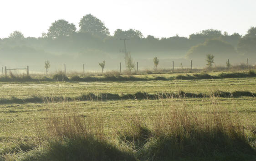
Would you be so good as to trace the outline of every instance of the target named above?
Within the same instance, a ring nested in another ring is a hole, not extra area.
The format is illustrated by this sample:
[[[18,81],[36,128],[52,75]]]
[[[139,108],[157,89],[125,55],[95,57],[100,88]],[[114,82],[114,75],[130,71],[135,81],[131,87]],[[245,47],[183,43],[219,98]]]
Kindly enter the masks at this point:
[[[120,96],[143,91],[148,94],[185,93],[212,94],[212,91],[249,91],[256,93],[256,78],[223,78],[172,81],[131,82],[15,82],[0,83],[0,99],[36,97],[77,98],[84,93],[112,93]]]

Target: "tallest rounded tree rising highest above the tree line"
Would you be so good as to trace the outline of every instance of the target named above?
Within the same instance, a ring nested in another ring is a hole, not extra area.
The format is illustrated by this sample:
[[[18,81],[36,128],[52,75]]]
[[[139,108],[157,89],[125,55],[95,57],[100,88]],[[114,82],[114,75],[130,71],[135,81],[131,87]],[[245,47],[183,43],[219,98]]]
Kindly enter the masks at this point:
[[[83,33],[91,33],[93,35],[108,36],[109,30],[105,24],[97,17],[88,14],[82,17],[79,22],[79,31]]]

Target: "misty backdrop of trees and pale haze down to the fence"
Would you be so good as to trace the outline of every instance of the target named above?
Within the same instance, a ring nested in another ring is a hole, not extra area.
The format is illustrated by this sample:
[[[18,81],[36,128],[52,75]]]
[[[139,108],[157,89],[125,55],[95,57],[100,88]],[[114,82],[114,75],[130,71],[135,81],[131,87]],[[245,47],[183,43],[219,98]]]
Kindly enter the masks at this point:
[[[81,18],[79,29],[66,20],[52,22],[42,37],[24,37],[22,31],[14,31],[8,38],[0,39],[2,66],[8,68],[26,67],[31,71],[44,72],[44,61],[51,61],[51,72],[64,69],[82,72],[100,71],[98,63],[106,61],[106,70],[119,70],[119,63],[125,68],[125,49],[139,69],[152,70],[152,59],[159,58],[159,68],[190,68],[190,60],[195,68],[205,68],[207,54],[215,55],[215,65],[225,66],[228,59],[232,64],[256,64],[256,28],[248,27],[246,35],[228,34],[217,29],[202,29],[189,37],[179,34],[168,38],[143,36],[136,29],[116,29],[111,35],[108,27],[97,17],[88,14]]]

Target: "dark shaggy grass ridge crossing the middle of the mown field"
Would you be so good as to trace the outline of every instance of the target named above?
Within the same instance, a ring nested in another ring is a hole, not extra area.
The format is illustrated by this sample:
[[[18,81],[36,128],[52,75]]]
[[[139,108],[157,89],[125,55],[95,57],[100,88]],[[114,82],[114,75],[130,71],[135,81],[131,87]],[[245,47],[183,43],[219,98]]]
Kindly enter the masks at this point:
[[[239,98],[239,97],[256,97],[256,93],[251,93],[249,91],[234,91],[234,92],[225,92],[225,91],[215,91],[211,94],[204,93],[187,93],[184,91],[172,92],[172,93],[156,93],[149,94],[146,92],[137,92],[134,94],[113,94],[113,93],[88,93],[82,94],[80,97],[39,97],[33,96],[31,98],[1,98],[0,104],[12,104],[12,103],[47,103],[47,102],[72,102],[72,101],[94,101],[94,100],[126,100],[126,99],[166,99],[166,98]]]

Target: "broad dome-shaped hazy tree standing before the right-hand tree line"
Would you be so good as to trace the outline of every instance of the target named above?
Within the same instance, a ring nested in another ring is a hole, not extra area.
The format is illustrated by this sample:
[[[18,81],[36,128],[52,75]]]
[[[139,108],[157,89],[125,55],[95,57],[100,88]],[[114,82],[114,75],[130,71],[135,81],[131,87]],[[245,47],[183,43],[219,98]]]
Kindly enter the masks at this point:
[[[187,57],[205,58],[205,55],[212,54],[218,56],[236,56],[235,48],[220,39],[208,39],[204,44],[198,44],[189,49]]]

